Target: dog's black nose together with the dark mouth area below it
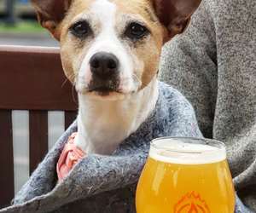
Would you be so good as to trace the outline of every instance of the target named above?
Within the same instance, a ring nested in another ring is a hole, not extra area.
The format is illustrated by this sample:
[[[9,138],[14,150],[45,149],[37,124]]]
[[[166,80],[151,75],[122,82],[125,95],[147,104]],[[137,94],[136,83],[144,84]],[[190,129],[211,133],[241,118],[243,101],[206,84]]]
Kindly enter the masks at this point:
[[[119,60],[107,52],[99,52],[90,58],[90,72],[92,79],[89,90],[109,93],[118,92],[119,88]]]

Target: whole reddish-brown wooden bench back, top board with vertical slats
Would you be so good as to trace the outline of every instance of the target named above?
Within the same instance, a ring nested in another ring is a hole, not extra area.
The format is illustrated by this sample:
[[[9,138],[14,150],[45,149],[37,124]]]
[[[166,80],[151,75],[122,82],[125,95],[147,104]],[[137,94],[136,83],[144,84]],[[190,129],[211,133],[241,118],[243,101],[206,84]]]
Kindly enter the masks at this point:
[[[15,195],[12,111],[29,111],[30,174],[48,151],[48,111],[77,113],[76,96],[61,68],[59,49],[0,46],[0,209]]]

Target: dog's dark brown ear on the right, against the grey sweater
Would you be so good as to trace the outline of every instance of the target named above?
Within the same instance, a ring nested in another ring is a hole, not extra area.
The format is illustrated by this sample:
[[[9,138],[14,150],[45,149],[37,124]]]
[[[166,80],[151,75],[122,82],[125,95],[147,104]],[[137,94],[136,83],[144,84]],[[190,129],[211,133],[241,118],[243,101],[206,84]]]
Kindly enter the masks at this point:
[[[160,22],[166,26],[169,39],[184,32],[189,25],[191,15],[201,0],[151,0]]]

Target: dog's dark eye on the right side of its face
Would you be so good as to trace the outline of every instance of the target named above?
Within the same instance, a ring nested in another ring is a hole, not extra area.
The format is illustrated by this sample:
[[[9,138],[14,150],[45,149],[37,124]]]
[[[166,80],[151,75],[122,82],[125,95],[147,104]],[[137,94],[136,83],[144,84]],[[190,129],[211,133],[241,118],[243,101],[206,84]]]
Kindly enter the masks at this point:
[[[147,36],[148,33],[149,31],[145,26],[134,22],[127,27],[125,36],[131,38],[132,40],[138,40]]]

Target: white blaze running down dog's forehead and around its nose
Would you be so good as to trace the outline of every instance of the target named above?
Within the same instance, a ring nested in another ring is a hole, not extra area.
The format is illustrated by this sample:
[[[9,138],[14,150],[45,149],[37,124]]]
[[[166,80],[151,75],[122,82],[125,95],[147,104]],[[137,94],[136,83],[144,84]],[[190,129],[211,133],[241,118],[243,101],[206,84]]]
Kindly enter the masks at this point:
[[[84,57],[79,76],[86,76],[84,72],[86,70],[88,71],[86,67],[89,66],[90,58],[93,55],[97,52],[108,52],[115,55],[119,60],[120,85],[122,85],[122,90],[124,92],[131,91],[135,87],[132,81],[133,63],[131,55],[120,41],[121,38],[116,30],[117,5],[108,0],[96,0],[90,5],[89,14],[94,17],[94,21],[97,22],[96,26],[99,28],[96,29],[98,32],[94,43]],[[87,82],[85,83],[90,83],[88,82],[89,79],[86,79]]]

